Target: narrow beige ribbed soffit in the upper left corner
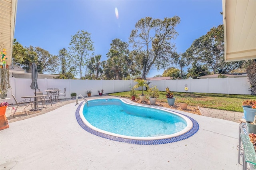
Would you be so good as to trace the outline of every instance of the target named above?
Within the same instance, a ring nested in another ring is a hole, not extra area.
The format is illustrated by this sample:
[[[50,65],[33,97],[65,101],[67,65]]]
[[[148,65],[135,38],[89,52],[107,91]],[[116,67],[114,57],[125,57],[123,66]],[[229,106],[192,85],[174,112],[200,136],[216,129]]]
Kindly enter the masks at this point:
[[[6,49],[8,65],[12,61],[16,10],[17,0],[0,0],[0,51]]]

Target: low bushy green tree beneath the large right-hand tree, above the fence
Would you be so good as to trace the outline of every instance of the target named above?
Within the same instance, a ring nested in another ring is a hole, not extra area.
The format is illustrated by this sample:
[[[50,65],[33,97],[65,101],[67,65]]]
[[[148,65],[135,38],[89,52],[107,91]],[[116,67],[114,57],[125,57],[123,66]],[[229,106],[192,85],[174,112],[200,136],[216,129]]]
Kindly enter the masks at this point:
[[[188,68],[187,77],[190,77],[192,79],[198,79],[197,77],[204,75],[210,75],[210,71],[208,71],[206,65],[200,65],[197,62],[193,62],[192,66]]]

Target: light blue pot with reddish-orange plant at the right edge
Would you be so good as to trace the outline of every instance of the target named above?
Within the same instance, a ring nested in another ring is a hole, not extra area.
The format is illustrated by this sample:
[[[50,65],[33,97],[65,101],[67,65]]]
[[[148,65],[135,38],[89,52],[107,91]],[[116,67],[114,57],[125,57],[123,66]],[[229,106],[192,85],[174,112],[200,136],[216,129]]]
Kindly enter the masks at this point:
[[[246,122],[253,122],[256,115],[256,100],[248,99],[242,101],[242,107],[244,109],[244,119]]]

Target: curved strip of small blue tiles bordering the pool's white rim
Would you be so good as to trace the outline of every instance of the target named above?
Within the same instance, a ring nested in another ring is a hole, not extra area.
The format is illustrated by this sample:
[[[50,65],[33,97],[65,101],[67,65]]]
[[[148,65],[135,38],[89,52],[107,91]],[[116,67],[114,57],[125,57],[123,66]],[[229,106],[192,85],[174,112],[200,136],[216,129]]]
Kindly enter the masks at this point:
[[[126,139],[126,138],[111,136],[111,135],[104,134],[104,133],[98,132],[96,130],[93,130],[84,124],[84,122],[82,121],[82,119],[80,118],[80,115],[79,115],[79,111],[80,111],[80,108],[83,103],[84,103],[84,101],[81,102],[80,105],[78,106],[78,108],[76,109],[76,120],[77,120],[78,124],[84,130],[86,130],[87,132],[89,132],[91,134],[100,136],[102,138],[118,141],[118,142],[126,142],[126,143],[130,143],[130,144],[140,144],[140,145],[166,144],[166,143],[178,142],[180,140],[187,139],[190,136],[193,136],[199,129],[199,125],[194,119],[192,119],[191,117],[184,115],[182,113],[175,112],[175,113],[178,113],[180,115],[187,117],[188,119],[190,119],[192,121],[192,124],[193,124],[193,127],[190,130],[188,130],[188,132],[181,134],[180,136],[175,136],[172,138],[165,138],[165,139],[158,139],[158,140],[135,140],[135,139]]]

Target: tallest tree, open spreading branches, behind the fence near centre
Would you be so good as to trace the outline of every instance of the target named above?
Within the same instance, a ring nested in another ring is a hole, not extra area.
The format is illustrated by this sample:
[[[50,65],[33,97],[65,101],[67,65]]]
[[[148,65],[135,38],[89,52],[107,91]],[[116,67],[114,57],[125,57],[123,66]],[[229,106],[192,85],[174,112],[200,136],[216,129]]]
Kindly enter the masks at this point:
[[[174,16],[164,20],[146,17],[135,24],[129,42],[138,53],[134,60],[142,70],[142,79],[146,79],[152,66],[160,69],[168,65],[175,47],[171,40],[178,35],[174,27],[179,23],[180,18]]]

